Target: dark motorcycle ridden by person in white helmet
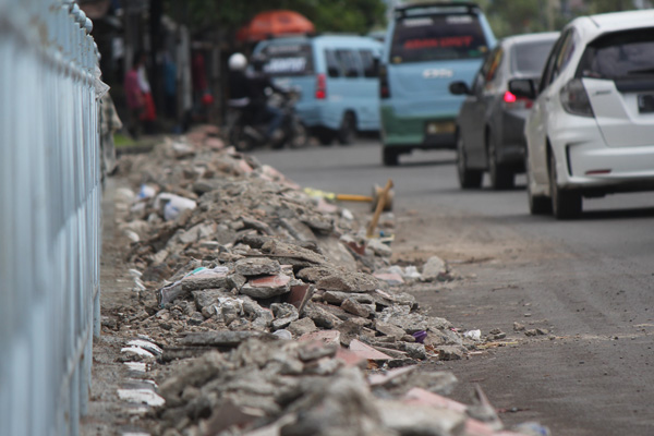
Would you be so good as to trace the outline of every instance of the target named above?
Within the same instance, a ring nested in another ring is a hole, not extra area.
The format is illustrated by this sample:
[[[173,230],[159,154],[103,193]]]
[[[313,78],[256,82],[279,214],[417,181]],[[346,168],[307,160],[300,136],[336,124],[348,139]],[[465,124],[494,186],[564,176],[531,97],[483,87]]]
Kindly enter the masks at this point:
[[[228,114],[228,141],[239,152],[251,152],[254,148],[270,146],[271,148],[302,148],[308,143],[308,131],[295,113],[295,104],[300,99],[300,90],[290,89],[284,94],[272,94],[270,105],[281,110],[283,118],[279,128],[281,134],[268,141],[267,120],[254,120],[255,114],[247,107],[230,107]]]

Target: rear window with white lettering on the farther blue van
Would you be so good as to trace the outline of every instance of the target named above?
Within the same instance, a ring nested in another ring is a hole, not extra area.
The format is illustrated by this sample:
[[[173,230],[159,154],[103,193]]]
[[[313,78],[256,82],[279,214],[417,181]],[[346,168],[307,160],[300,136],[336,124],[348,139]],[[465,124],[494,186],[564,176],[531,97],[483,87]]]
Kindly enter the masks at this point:
[[[308,44],[271,44],[263,53],[268,58],[264,71],[271,76],[313,74],[313,55]]]

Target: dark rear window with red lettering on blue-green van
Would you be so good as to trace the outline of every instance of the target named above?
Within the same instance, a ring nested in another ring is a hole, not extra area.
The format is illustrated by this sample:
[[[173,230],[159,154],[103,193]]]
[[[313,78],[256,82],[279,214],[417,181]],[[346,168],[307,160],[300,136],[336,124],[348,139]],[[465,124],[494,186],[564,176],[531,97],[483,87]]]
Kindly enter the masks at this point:
[[[396,23],[390,62],[481,58],[487,41],[473,14],[407,16]]]

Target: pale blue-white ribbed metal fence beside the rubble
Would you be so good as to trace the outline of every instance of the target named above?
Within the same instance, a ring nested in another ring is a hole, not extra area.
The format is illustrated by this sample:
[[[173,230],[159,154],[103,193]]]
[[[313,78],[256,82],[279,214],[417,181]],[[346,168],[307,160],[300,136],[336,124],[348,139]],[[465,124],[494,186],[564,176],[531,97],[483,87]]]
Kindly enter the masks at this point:
[[[0,0],[0,435],[75,435],[99,334],[97,51],[76,4]]]

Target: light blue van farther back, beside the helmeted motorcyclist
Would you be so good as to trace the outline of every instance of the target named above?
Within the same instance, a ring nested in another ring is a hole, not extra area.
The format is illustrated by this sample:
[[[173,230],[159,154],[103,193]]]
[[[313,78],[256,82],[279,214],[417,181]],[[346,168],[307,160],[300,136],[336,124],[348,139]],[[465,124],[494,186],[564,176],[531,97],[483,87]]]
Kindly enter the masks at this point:
[[[282,37],[257,44],[275,84],[299,87],[295,110],[322,144],[350,144],[379,130],[378,64],[383,45],[365,36]]]

